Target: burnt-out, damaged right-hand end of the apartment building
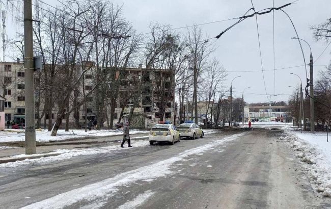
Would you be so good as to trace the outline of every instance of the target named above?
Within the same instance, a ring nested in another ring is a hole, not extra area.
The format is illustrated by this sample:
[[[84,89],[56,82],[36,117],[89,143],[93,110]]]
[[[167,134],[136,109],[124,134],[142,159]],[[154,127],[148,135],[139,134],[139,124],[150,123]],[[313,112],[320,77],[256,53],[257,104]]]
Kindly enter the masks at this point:
[[[139,65],[137,68],[126,68],[126,71],[127,76],[123,79],[120,95],[121,93],[125,94],[127,91],[134,91],[137,81],[142,80],[143,85],[141,95],[139,96],[139,106],[134,109],[131,127],[147,127],[149,123],[153,124],[162,120],[174,121],[176,113],[174,108],[173,72],[164,69],[145,69],[142,68],[142,65]],[[132,103],[130,99],[127,101],[127,106],[123,111],[124,117],[128,115]],[[116,119],[121,114],[121,107],[123,107],[123,104],[121,104],[121,98],[119,98],[117,108],[115,109]],[[160,109],[162,108],[165,109],[163,118],[161,118],[160,114]],[[114,122],[117,122],[117,120],[114,120]]]

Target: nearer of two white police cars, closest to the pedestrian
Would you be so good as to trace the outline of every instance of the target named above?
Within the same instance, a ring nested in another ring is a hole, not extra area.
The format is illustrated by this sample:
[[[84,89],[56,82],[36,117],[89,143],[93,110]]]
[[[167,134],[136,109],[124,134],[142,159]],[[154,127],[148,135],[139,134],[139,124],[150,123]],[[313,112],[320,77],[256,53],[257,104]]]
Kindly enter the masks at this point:
[[[149,144],[153,145],[154,142],[168,141],[171,144],[180,142],[180,136],[176,126],[173,124],[156,124],[154,125],[148,135]]]

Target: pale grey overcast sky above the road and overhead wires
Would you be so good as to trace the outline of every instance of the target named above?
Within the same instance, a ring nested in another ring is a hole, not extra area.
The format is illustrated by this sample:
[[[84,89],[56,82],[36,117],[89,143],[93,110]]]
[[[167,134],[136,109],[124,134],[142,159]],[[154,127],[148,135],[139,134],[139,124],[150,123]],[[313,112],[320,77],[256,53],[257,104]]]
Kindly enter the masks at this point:
[[[61,1],[61,0],[60,0]],[[294,0],[274,0],[274,6],[279,7]],[[45,1],[56,6],[57,1]],[[149,32],[151,22],[170,24],[173,28],[184,27],[192,24],[200,24],[235,18],[242,16],[249,8],[252,8],[251,0],[115,0],[115,4],[123,5],[123,16],[132,22],[137,32]],[[253,0],[256,11],[272,7],[272,0]],[[325,41],[316,42],[313,38],[312,25],[325,22],[331,18],[330,0],[299,0],[295,4],[284,8],[291,17],[300,38],[305,39],[312,47],[314,59],[316,59],[327,46]],[[236,20],[202,25],[202,31],[210,37],[215,37]],[[280,94],[271,98],[271,101],[287,101],[293,88],[297,86],[299,79],[290,75],[296,73],[301,77],[303,86],[306,85],[305,67],[294,67],[275,70],[275,89],[273,72],[273,30],[272,12],[258,16],[260,43],[262,51],[262,63],[268,94]],[[178,30],[185,33],[187,29]],[[303,65],[301,50],[297,40],[291,40],[295,32],[288,17],[282,11],[274,12],[274,45],[275,45],[275,68],[285,68]],[[9,39],[11,37],[8,37]],[[245,90],[246,102],[268,101],[265,96],[261,70],[257,26],[255,17],[247,18],[234,28],[226,32],[219,39],[214,40],[216,51],[212,56],[216,57],[228,71],[229,86],[233,77],[241,75],[233,82],[235,97],[241,97]],[[309,47],[302,42],[306,62],[309,63]],[[318,77],[318,71],[324,70],[330,61],[331,46],[315,62],[314,78]],[[309,73],[309,66],[307,66]],[[248,72],[239,72],[248,71]],[[261,95],[259,95],[261,94]]]

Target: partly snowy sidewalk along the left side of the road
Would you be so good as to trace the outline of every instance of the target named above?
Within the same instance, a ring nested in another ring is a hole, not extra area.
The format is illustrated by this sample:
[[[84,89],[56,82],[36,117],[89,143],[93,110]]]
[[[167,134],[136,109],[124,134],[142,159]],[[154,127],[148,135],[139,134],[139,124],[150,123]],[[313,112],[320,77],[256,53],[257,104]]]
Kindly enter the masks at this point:
[[[25,159],[36,159],[47,156],[56,156],[60,153],[52,153],[57,149],[79,149],[90,147],[102,147],[108,143],[119,143],[123,136],[109,136],[109,137],[93,137],[86,139],[70,139],[59,142],[38,142],[37,153],[34,155],[25,155],[24,142],[8,142],[1,143],[2,146],[12,146],[12,148],[0,149],[0,164],[23,161]],[[148,139],[148,134],[134,134],[131,135],[131,140]]]

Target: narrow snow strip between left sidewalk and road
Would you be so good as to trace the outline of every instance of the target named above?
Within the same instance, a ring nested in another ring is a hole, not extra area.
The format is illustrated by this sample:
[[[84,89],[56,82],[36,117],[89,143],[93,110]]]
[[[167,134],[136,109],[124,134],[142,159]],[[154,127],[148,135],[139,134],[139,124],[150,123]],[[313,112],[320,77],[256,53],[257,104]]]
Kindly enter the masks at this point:
[[[134,147],[142,147],[142,146],[149,146],[149,143],[147,143],[145,140],[139,140],[139,141],[132,141],[132,146]],[[63,161],[70,158],[73,158],[74,156],[80,156],[80,155],[90,155],[90,154],[103,154],[103,153],[109,153],[111,151],[114,151],[116,149],[119,149],[120,145],[113,145],[113,146],[106,146],[106,147],[93,147],[93,148],[87,148],[87,149],[58,149],[53,152],[47,153],[47,154],[59,154],[56,156],[48,156],[48,157],[41,157],[38,159],[25,159],[23,161],[16,161],[16,162],[10,162],[10,163],[3,163],[0,164],[0,168],[8,168],[8,167],[17,167],[22,165],[29,165],[29,164],[35,164],[35,163],[48,163],[48,162],[54,162],[54,161]],[[125,147],[124,149],[126,149]],[[121,148],[123,149],[123,148]],[[41,156],[43,154],[19,154],[15,155],[15,158],[24,158],[27,156]]]

